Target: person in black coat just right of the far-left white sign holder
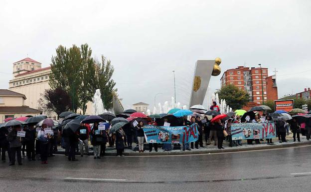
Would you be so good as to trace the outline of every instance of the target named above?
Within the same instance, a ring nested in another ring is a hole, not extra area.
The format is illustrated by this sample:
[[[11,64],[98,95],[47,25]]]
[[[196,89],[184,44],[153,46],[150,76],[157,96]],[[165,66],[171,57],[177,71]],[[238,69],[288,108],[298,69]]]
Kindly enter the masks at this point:
[[[33,127],[30,126],[27,127],[27,129],[25,129],[24,131],[26,132],[24,143],[26,144],[27,159],[28,161],[35,161],[34,142],[36,131]]]

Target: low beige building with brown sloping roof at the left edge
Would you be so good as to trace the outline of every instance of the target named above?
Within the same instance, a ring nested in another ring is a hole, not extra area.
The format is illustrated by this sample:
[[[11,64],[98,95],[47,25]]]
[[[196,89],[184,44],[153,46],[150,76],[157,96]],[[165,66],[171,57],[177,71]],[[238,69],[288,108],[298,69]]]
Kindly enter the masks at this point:
[[[26,96],[7,89],[0,89],[0,122],[8,117],[36,116],[41,111],[25,105]]]

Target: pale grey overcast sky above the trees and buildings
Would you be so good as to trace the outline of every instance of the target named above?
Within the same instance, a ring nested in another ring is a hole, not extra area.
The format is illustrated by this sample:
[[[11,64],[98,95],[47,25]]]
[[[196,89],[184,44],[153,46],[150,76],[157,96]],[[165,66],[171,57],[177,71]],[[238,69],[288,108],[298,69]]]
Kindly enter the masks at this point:
[[[1,0],[0,88],[12,63],[48,66],[55,48],[88,43],[107,56],[125,108],[137,102],[188,105],[194,64],[222,59],[222,73],[262,63],[277,69],[279,97],[311,87],[310,0]],[[221,75],[222,75],[221,73]],[[220,77],[212,77],[212,90]]]

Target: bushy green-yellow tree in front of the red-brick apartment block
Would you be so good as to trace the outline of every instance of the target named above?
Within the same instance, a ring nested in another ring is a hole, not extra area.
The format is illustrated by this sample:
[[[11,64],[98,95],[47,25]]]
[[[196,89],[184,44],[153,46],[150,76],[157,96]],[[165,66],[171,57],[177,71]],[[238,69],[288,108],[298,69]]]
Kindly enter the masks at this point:
[[[234,85],[223,86],[217,93],[219,99],[225,99],[233,110],[241,109],[249,101],[249,94]]]

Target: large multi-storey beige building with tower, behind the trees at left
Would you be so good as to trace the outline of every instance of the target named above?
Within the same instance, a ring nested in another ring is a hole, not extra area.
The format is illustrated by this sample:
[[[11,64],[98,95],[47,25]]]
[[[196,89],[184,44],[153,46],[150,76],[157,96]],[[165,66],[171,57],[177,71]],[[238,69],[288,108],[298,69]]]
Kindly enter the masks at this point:
[[[8,88],[11,91],[25,95],[28,98],[25,100],[26,106],[38,109],[38,100],[41,98],[41,94],[46,89],[50,89],[48,84],[50,73],[50,66],[41,68],[40,62],[27,57],[13,63],[13,79],[9,81]],[[92,114],[92,106],[92,102],[87,103],[86,115]],[[81,110],[78,109],[77,113],[80,112]],[[54,113],[43,111],[43,114],[56,117]]]

